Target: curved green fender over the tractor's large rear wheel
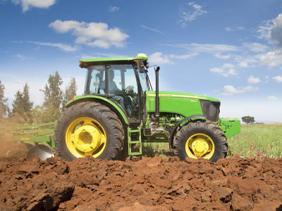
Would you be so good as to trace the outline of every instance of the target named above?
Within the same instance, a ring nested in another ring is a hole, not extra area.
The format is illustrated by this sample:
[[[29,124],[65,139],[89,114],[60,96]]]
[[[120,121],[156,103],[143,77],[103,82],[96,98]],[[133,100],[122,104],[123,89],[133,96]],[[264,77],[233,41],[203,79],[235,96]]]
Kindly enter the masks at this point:
[[[68,101],[68,103],[66,103],[66,108],[73,106],[76,103],[80,103],[84,101],[94,101],[97,103],[101,103],[104,106],[108,106],[109,108],[111,108],[111,110],[114,111],[114,113],[116,113],[116,115],[118,116],[118,118],[121,120],[123,124],[126,125],[129,124],[128,117],[123,111],[123,108],[121,108],[116,103],[103,96],[94,96],[94,95],[75,96],[73,99],[71,99],[71,101]]]

